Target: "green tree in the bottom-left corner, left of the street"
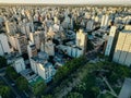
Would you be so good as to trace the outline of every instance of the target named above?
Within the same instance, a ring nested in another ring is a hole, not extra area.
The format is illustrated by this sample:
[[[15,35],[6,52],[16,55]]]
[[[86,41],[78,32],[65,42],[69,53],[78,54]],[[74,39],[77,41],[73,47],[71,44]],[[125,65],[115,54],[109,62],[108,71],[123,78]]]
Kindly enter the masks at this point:
[[[10,98],[11,89],[8,86],[0,85],[0,95],[2,98]]]

